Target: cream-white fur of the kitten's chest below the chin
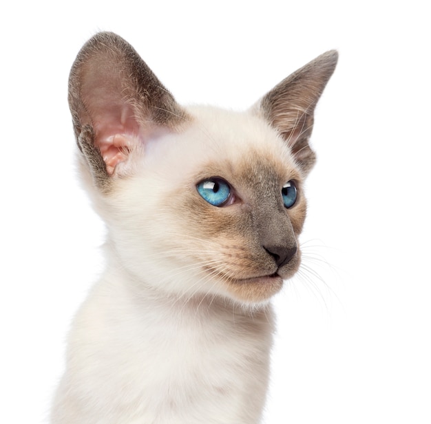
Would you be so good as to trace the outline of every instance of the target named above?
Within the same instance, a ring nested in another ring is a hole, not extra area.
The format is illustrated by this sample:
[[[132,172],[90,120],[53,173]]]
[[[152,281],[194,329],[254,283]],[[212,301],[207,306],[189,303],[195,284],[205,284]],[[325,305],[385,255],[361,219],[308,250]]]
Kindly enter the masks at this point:
[[[78,410],[92,405],[85,416],[105,416],[103,423],[258,422],[271,309],[251,315],[196,302],[137,301],[124,286],[96,287],[76,316],[73,380],[63,381],[64,390],[78,389],[76,401],[86,393]]]

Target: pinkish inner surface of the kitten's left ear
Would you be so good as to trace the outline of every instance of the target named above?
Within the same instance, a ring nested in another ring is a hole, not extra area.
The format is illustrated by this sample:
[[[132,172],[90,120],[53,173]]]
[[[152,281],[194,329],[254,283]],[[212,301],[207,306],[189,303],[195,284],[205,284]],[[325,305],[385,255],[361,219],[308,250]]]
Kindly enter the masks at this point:
[[[107,174],[113,175],[132,150],[143,146],[144,117],[150,113],[145,104],[138,107],[139,89],[125,71],[131,64],[123,52],[118,50],[113,57],[113,52],[108,54],[103,46],[95,45],[86,53],[85,60],[79,61],[78,55],[72,68],[71,109],[76,107],[78,126],[92,126],[94,148],[100,152]],[[78,102],[72,89],[78,89]]]

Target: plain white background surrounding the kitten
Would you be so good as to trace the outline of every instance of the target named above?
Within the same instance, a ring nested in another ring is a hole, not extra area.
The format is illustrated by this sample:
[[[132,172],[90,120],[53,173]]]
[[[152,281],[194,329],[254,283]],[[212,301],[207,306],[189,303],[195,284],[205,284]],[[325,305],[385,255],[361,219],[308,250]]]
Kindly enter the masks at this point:
[[[182,103],[244,109],[327,49],[302,276],[277,295],[265,423],[431,423],[425,1],[8,1],[1,6],[0,422],[45,423],[101,270],[67,76],[97,30]]]

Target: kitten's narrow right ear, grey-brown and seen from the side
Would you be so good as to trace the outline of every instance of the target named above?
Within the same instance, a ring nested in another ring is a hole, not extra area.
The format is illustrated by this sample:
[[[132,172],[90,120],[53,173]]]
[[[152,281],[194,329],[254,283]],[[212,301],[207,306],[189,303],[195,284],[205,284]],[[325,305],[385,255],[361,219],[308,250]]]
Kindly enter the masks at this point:
[[[322,54],[282,80],[255,105],[284,137],[304,175],[315,163],[315,153],[308,144],[315,106],[337,60],[335,50]]]

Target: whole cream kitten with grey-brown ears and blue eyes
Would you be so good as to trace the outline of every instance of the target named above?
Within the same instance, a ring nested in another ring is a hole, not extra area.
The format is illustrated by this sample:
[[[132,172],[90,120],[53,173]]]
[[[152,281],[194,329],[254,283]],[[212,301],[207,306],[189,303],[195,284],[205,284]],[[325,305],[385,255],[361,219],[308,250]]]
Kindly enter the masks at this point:
[[[54,424],[253,424],[269,300],[295,274],[327,52],[251,109],[181,107],[135,50],[96,34],[69,102],[106,269],[72,325]]]

